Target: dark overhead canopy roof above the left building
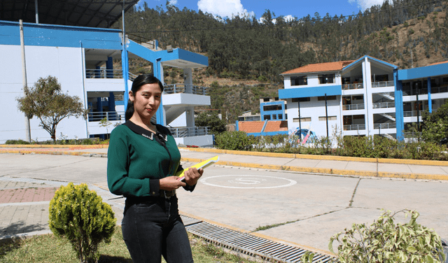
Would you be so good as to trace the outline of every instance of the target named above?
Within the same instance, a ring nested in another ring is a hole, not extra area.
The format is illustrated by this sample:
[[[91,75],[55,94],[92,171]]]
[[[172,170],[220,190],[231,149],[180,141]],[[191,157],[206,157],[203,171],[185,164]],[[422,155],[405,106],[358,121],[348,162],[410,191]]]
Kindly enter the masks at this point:
[[[125,0],[125,10],[139,0]],[[0,20],[109,28],[122,14],[123,0],[1,0]]]

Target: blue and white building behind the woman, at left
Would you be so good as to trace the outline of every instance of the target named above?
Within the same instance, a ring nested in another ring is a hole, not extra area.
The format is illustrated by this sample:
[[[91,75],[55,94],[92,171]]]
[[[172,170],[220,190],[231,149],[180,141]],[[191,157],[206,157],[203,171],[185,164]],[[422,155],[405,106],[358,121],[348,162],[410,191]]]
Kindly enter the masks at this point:
[[[153,64],[153,73],[162,83],[164,68],[183,69],[183,83],[165,85],[157,122],[170,127],[177,143],[213,144],[207,127],[195,127],[194,119],[195,106],[210,105],[207,88],[193,85],[193,70],[208,66],[207,57],[181,48],[161,50],[157,41],[137,43],[123,37],[122,30],[104,28],[137,2],[126,1],[125,6],[107,0],[2,2],[2,17],[6,20],[0,20],[0,143],[26,139],[25,115],[18,110],[16,101],[23,96],[25,72],[29,87],[38,78],[55,76],[64,93],[78,96],[85,108],[90,108],[87,120],[62,120],[57,125],[57,137],[104,138],[113,125],[125,121],[127,91],[136,77],[129,71],[128,59],[140,57]],[[19,19],[25,21],[25,71]],[[99,120],[103,118],[112,125],[101,127]],[[39,127],[37,118],[30,120],[30,127],[32,140],[51,139]]]

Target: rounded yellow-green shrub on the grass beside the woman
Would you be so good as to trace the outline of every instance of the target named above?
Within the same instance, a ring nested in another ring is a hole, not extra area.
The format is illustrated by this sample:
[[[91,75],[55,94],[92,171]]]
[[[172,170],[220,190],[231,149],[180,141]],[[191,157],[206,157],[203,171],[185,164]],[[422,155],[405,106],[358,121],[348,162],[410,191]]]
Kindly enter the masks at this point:
[[[109,243],[116,225],[111,206],[85,184],[61,186],[50,201],[49,227],[69,239],[80,262],[97,262],[98,245]]]

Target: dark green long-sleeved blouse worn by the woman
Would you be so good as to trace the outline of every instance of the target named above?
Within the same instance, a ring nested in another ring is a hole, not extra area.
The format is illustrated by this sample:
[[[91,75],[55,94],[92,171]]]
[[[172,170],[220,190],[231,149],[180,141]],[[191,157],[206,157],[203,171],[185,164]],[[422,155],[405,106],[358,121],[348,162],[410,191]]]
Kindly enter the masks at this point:
[[[107,152],[107,183],[113,194],[125,197],[159,196],[159,179],[173,176],[181,162],[181,152],[166,127],[157,125],[166,134],[167,150],[150,138],[136,134],[126,125],[111,132]]]

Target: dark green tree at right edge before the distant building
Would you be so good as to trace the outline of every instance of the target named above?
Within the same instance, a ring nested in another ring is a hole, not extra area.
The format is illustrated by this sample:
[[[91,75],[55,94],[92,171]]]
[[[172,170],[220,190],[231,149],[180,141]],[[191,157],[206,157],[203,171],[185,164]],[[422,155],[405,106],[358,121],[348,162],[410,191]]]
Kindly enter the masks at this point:
[[[437,111],[423,112],[421,138],[427,142],[448,143],[448,101]]]

